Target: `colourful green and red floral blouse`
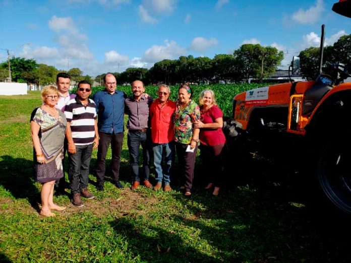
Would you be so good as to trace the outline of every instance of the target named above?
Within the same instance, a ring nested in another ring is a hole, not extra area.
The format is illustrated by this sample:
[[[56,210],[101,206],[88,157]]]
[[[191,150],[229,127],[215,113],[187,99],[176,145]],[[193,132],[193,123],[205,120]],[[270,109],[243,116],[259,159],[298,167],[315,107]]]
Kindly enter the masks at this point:
[[[177,100],[177,107],[173,114],[174,120],[174,141],[181,144],[190,144],[193,137],[193,124],[200,119],[200,108],[195,101],[189,101],[182,109],[181,103]]]

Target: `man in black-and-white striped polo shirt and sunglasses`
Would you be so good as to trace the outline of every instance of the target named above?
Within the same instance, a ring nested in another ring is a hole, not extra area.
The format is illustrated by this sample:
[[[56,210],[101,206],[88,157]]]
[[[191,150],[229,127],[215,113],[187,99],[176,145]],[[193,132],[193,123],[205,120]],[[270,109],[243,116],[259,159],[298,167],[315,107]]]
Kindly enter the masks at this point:
[[[95,103],[89,99],[90,94],[91,84],[85,80],[80,81],[77,97],[65,107],[72,204],[77,207],[83,206],[81,195],[86,199],[94,198],[88,191],[88,175],[92,151],[99,144],[99,134]]]

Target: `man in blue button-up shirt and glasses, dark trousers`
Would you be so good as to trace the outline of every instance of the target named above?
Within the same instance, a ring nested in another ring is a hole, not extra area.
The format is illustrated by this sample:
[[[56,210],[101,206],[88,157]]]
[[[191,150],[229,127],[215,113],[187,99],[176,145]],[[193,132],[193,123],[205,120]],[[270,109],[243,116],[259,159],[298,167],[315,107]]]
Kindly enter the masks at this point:
[[[116,91],[116,78],[112,73],[104,77],[105,90],[97,92],[93,100],[97,111],[97,125],[99,130],[99,146],[97,149],[97,190],[103,191],[105,181],[105,159],[109,145],[111,144],[112,176],[113,183],[117,188],[124,187],[120,183],[120,161],[123,145],[126,94]]]

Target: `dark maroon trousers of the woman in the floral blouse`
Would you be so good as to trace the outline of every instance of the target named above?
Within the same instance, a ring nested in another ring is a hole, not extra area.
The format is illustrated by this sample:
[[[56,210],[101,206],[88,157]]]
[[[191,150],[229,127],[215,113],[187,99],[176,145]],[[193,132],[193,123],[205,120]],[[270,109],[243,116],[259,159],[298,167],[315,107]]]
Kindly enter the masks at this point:
[[[194,168],[198,146],[196,145],[193,153],[186,152],[188,145],[175,143],[175,150],[178,156],[178,165],[180,170],[181,184],[186,191],[190,191],[193,186]]]

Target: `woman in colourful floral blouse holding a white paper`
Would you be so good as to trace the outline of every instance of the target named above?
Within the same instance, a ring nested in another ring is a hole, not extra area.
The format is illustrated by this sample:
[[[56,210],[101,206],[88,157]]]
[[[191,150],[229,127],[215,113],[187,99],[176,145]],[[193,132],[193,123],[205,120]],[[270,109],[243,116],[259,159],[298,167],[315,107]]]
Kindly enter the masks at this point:
[[[181,169],[181,189],[191,195],[194,178],[195,159],[199,142],[199,128],[194,122],[200,119],[200,108],[191,99],[192,90],[187,85],[178,89],[177,108],[174,112],[174,142]]]

